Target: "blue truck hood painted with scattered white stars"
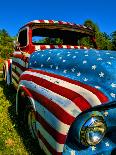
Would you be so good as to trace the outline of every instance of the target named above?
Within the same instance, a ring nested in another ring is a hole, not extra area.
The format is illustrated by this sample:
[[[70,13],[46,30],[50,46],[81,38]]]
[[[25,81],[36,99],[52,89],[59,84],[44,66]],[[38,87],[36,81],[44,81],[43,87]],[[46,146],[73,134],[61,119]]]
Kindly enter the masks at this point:
[[[116,101],[116,51],[48,49],[30,56],[29,68],[80,81]]]

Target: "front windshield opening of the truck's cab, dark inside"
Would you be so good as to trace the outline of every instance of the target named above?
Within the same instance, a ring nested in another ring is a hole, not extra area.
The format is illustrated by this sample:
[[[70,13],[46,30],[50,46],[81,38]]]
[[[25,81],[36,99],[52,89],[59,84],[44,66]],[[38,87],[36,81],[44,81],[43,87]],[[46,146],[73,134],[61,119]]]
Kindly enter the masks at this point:
[[[34,28],[32,29],[32,43],[34,45],[78,45],[93,46],[92,36],[73,29]],[[88,45],[87,45],[88,43]]]

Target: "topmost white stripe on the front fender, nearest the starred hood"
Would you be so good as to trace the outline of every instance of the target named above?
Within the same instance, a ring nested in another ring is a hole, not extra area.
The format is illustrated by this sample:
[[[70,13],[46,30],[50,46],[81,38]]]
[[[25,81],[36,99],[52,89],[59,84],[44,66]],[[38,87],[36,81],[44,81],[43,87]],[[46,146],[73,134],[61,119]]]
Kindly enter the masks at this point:
[[[83,96],[90,103],[91,106],[96,106],[96,105],[101,104],[100,100],[98,99],[98,97],[95,94],[93,94],[91,91],[89,91],[81,86],[77,86],[77,85],[69,83],[67,81],[63,81],[61,79],[57,79],[57,78],[54,78],[54,77],[48,76],[48,75],[43,75],[43,74],[40,74],[37,72],[26,71],[26,72],[24,72],[24,74],[34,75],[36,77],[45,79],[49,82],[55,83],[56,85],[63,86],[67,89],[70,89],[70,90],[80,94],[81,96]]]

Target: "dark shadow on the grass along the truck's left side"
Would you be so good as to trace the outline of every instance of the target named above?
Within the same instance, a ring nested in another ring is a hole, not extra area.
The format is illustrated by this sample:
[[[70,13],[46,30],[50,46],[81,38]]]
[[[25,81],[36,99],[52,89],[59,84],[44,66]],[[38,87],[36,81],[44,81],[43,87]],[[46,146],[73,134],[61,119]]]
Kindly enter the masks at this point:
[[[0,87],[3,88],[3,93],[6,99],[10,102],[10,107],[8,108],[9,116],[12,124],[15,124],[15,129],[20,135],[23,144],[29,153],[29,155],[45,155],[44,152],[40,149],[38,142],[34,141],[28,131],[20,125],[17,116],[16,116],[16,90],[13,86],[7,87],[4,81],[0,81]]]

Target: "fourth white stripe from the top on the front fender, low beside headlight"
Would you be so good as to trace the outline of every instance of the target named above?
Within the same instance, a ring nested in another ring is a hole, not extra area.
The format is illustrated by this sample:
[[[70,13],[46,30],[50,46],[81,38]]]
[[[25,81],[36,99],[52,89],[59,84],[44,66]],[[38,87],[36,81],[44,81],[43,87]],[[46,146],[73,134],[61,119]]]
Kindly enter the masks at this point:
[[[37,122],[37,130],[40,131],[41,135],[46,139],[46,141],[54,148],[57,152],[63,152],[64,144],[58,143],[43,127]]]

